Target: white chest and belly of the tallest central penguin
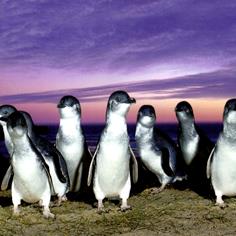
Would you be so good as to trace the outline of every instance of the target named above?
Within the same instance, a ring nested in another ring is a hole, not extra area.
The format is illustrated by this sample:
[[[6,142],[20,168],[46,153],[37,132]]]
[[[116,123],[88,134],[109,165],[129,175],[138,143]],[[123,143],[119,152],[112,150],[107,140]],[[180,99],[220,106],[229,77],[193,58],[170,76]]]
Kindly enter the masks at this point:
[[[100,140],[96,176],[107,193],[118,193],[129,177],[130,153],[126,123],[109,124]]]

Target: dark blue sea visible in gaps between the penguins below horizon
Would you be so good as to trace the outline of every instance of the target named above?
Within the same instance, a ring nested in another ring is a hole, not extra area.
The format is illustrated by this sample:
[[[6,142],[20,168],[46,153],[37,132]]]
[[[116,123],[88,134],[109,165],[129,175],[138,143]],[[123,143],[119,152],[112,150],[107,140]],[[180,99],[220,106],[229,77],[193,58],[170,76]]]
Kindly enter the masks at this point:
[[[220,123],[201,123],[198,124],[198,126],[205,132],[205,134],[213,142],[217,140],[218,135],[222,130],[222,124]],[[177,142],[177,130],[178,130],[177,124],[159,124],[157,125],[157,127],[161,129],[163,132],[167,133],[175,142]],[[104,125],[97,125],[97,124],[83,125],[86,141],[92,152],[94,151],[97,145],[97,142],[99,140],[103,128]],[[37,126],[36,130],[41,136],[45,137],[52,143],[55,143],[58,125]],[[128,125],[128,133],[130,136],[131,147],[135,150],[136,149],[135,138],[134,138],[135,125],[133,124]],[[0,157],[8,158],[8,153],[5,148],[2,130],[0,130]]]

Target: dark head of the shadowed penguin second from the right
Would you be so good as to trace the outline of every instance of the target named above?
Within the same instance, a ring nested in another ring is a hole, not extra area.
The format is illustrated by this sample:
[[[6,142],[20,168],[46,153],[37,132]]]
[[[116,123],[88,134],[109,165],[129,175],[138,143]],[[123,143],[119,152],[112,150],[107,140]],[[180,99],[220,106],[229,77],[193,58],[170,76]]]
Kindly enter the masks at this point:
[[[175,113],[179,121],[194,119],[193,109],[186,101],[179,102],[176,105]]]

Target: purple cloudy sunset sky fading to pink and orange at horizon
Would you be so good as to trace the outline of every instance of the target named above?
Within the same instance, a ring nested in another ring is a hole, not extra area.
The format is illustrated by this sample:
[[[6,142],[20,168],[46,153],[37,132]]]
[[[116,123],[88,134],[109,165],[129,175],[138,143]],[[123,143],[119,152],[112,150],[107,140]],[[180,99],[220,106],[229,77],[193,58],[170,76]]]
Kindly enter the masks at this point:
[[[115,90],[176,122],[191,103],[197,122],[221,122],[236,97],[236,1],[1,0],[0,105],[58,123],[57,103],[76,96],[84,123],[103,123]]]

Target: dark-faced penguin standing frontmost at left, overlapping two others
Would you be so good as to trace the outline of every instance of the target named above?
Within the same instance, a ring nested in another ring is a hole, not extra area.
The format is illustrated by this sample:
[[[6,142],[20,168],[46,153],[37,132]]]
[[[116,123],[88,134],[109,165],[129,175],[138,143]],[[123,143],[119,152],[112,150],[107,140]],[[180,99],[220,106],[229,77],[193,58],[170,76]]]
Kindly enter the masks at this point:
[[[40,202],[43,215],[54,218],[49,203],[53,188],[49,168],[42,155],[28,137],[24,116],[16,111],[8,117],[7,130],[14,145],[11,158],[13,181],[11,185],[13,214],[19,215],[21,200],[28,203]]]

